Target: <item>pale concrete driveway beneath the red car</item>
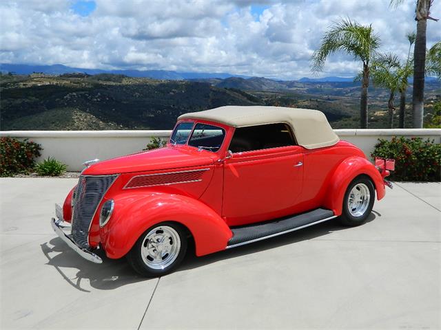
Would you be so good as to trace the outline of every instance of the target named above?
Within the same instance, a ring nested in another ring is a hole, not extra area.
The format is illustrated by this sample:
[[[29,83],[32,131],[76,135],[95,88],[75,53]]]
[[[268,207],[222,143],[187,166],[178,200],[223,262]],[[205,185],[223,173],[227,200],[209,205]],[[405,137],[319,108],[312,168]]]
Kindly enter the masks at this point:
[[[441,184],[396,184],[330,221],[142,278],[50,228],[75,179],[0,179],[1,329],[440,329]]]

